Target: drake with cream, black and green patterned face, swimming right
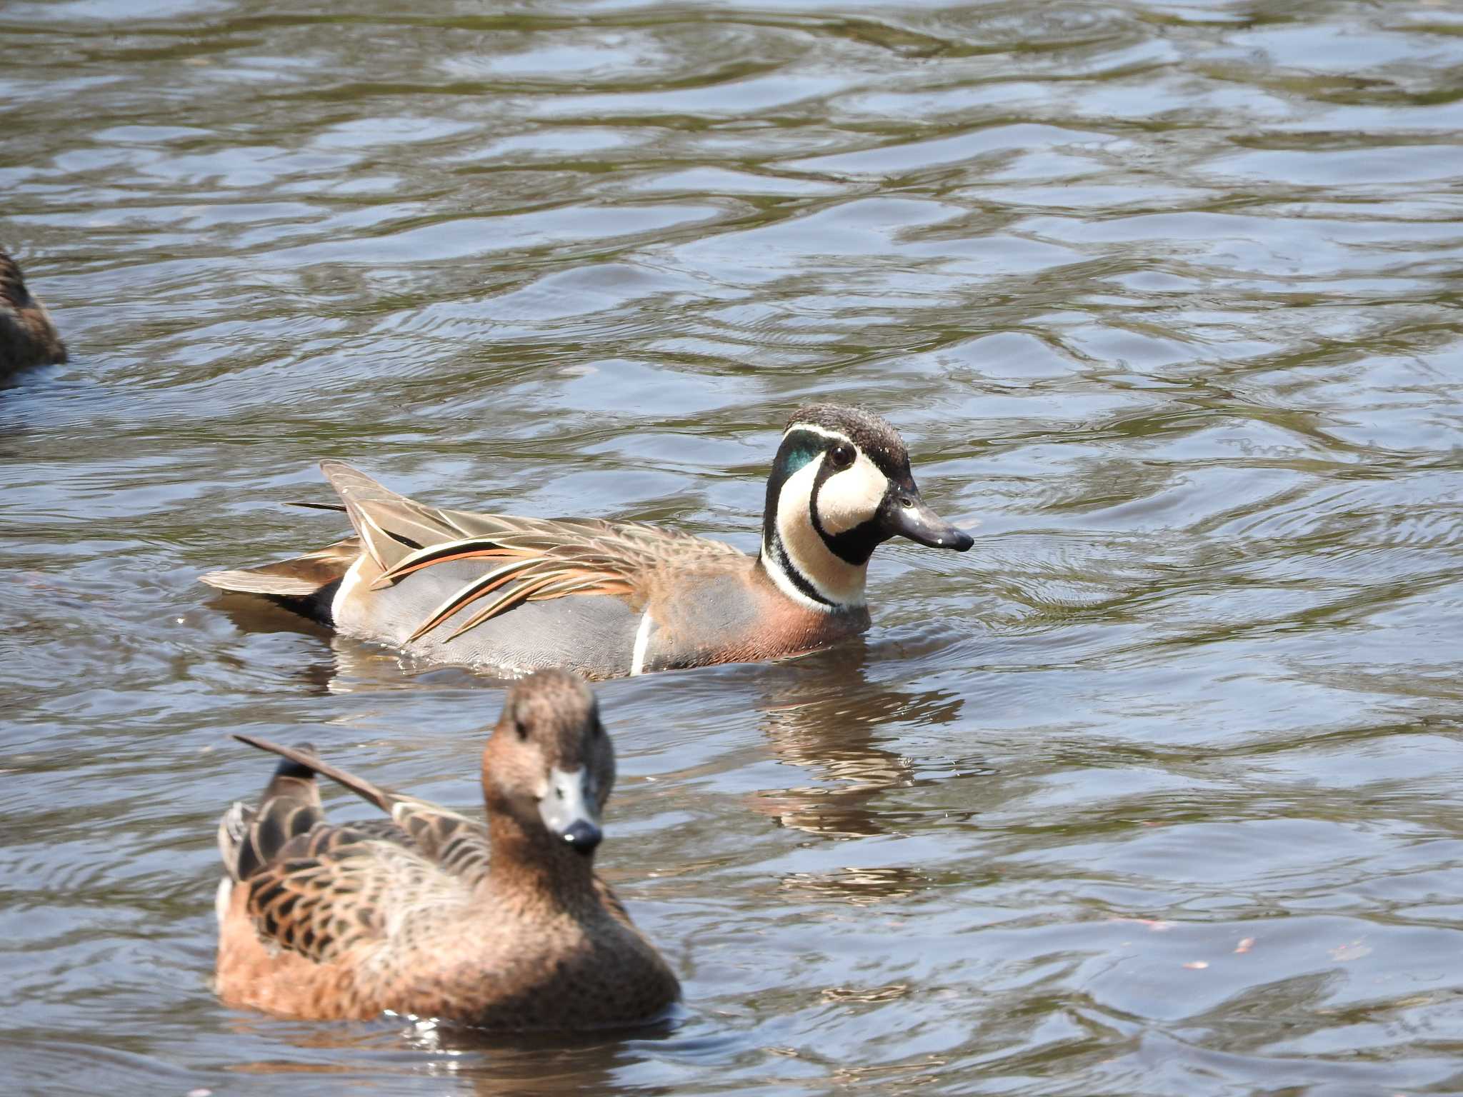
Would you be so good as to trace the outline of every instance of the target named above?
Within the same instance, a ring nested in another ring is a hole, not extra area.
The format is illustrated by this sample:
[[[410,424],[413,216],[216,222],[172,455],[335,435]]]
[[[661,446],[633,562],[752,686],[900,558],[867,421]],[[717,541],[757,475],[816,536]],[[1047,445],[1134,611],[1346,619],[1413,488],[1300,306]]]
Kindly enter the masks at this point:
[[[881,543],[971,546],[920,499],[898,431],[834,404],[789,420],[755,557],[639,522],[442,510],[338,461],[320,468],[356,537],[203,582],[426,660],[506,673],[560,666],[606,679],[815,651],[869,627],[865,578]]]

